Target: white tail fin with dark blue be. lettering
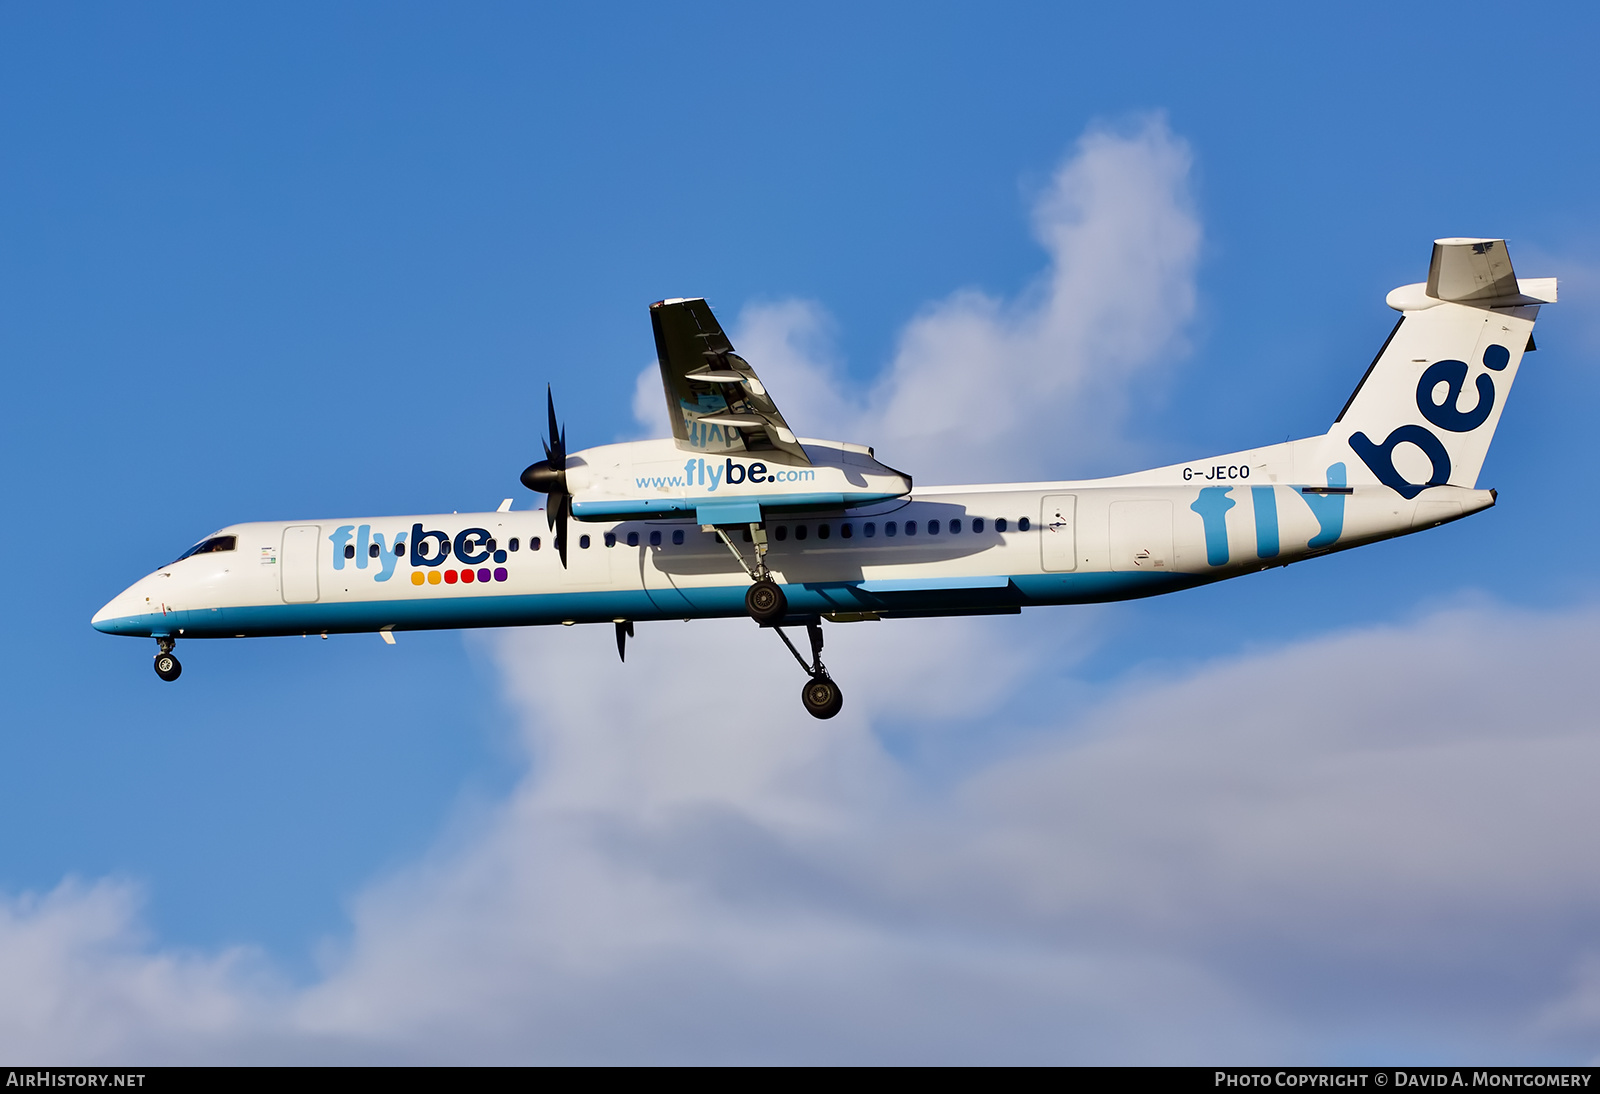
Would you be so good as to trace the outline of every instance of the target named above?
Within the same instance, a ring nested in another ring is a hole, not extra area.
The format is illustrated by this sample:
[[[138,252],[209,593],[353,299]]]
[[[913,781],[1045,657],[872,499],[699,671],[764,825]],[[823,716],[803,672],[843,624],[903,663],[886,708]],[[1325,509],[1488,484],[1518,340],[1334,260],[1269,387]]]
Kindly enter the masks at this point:
[[[1438,240],[1427,283],[1389,294],[1400,321],[1328,430],[1354,483],[1403,497],[1477,486],[1541,304],[1555,278],[1517,280],[1506,240]]]

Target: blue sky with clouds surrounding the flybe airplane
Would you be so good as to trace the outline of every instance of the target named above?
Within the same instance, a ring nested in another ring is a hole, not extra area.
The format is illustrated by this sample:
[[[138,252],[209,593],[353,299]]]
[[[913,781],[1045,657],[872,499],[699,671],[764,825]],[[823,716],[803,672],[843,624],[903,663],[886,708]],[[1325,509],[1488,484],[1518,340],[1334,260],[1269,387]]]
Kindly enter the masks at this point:
[[[6,6],[0,1046],[1594,1059],[1597,817],[1546,806],[1600,763],[1595,32],[1578,5]],[[840,633],[837,726],[790,721],[786,654],[734,624],[643,627],[626,672],[582,629],[189,643],[178,686],[88,627],[237,520],[530,505],[547,381],[574,445],[642,429],[654,299],[707,296],[824,417],[802,432],[923,481],[1075,477],[1320,433],[1440,235],[1563,278],[1496,509],[1158,601]],[[1062,304],[1066,274],[1104,291]],[[1054,315],[1098,352],[1019,333]],[[1070,382],[987,392],[1037,395],[1014,437],[874,432],[939,400],[917,334],[963,323]],[[674,670],[728,649],[771,725]],[[1280,717],[1195,707],[1229,680]]]

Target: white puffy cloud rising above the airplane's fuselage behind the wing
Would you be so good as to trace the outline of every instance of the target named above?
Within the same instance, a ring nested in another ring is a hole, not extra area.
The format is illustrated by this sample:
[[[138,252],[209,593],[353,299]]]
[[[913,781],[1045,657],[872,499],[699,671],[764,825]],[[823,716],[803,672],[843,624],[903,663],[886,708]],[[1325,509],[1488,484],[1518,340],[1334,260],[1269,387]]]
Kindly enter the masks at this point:
[[[813,302],[752,304],[730,336],[802,435],[874,445],[920,483],[1120,469],[1128,393],[1181,355],[1195,310],[1189,166],[1160,117],[1091,130],[1034,205],[1046,269],[1016,299],[965,288],[923,309],[870,390],[840,382]],[[661,432],[654,363],[634,414]]]

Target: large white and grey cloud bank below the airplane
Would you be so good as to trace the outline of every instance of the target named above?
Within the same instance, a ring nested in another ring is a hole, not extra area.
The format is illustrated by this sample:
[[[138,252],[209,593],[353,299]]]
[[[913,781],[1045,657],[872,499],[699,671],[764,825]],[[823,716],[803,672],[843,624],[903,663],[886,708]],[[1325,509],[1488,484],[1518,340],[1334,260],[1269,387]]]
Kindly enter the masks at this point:
[[[1050,702],[1043,661],[979,665],[978,705],[1045,691],[1026,734],[922,702],[901,733],[978,757],[950,785],[875,731],[907,694],[877,662],[925,633],[946,665],[1000,662],[1043,627],[840,629],[830,723],[747,625],[696,624],[693,664],[674,627],[642,627],[626,667],[598,629],[496,641],[528,776],[371,886],[304,990],[142,945],[117,886],[13,904],[0,1049],[1483,1060],[1597,1032],[1597,611],[1440,614],[1085,710]]]

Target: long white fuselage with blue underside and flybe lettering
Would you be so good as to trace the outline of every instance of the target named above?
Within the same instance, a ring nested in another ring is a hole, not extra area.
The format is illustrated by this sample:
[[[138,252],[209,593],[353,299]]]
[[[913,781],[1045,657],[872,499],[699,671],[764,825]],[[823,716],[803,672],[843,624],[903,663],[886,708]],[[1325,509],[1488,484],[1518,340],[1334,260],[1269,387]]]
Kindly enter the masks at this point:
[[[920,488],[766,521],[794,616],[1008,613],[1126,600],[1400,536],[1486,509],[1346,486],[1296,441],[1093,481]],[[1310,446],[1310,448],[1309,448]],[[574,520],[568,566],[542,510],[232,525],[139,579],[94,627],[227,638],[744,614],[749,577],[693,518]],[[736,545],[741,533],[731,533]]]

